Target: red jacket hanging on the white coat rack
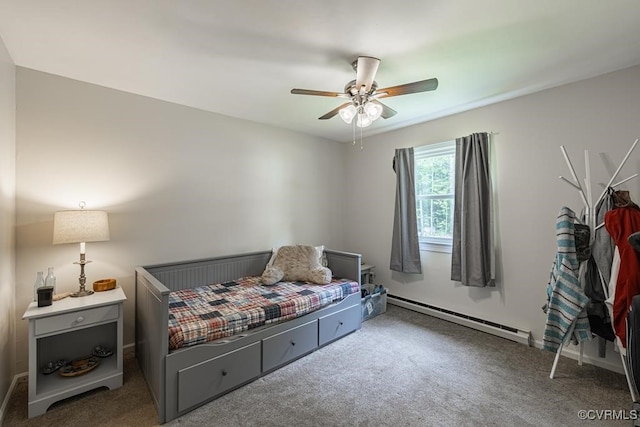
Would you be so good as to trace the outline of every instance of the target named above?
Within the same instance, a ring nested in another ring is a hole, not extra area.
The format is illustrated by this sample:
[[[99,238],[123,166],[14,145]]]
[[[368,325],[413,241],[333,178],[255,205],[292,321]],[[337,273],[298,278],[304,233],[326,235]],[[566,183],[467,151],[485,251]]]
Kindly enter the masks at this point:
[[[640,295],[640,263],[627,237],[640,231],[640,209],[635,206],[612,209],[605,214],[604,225],[620,253],[620,270],[613,300],[613,329],[626,348],[627,313],[631,299]]]

